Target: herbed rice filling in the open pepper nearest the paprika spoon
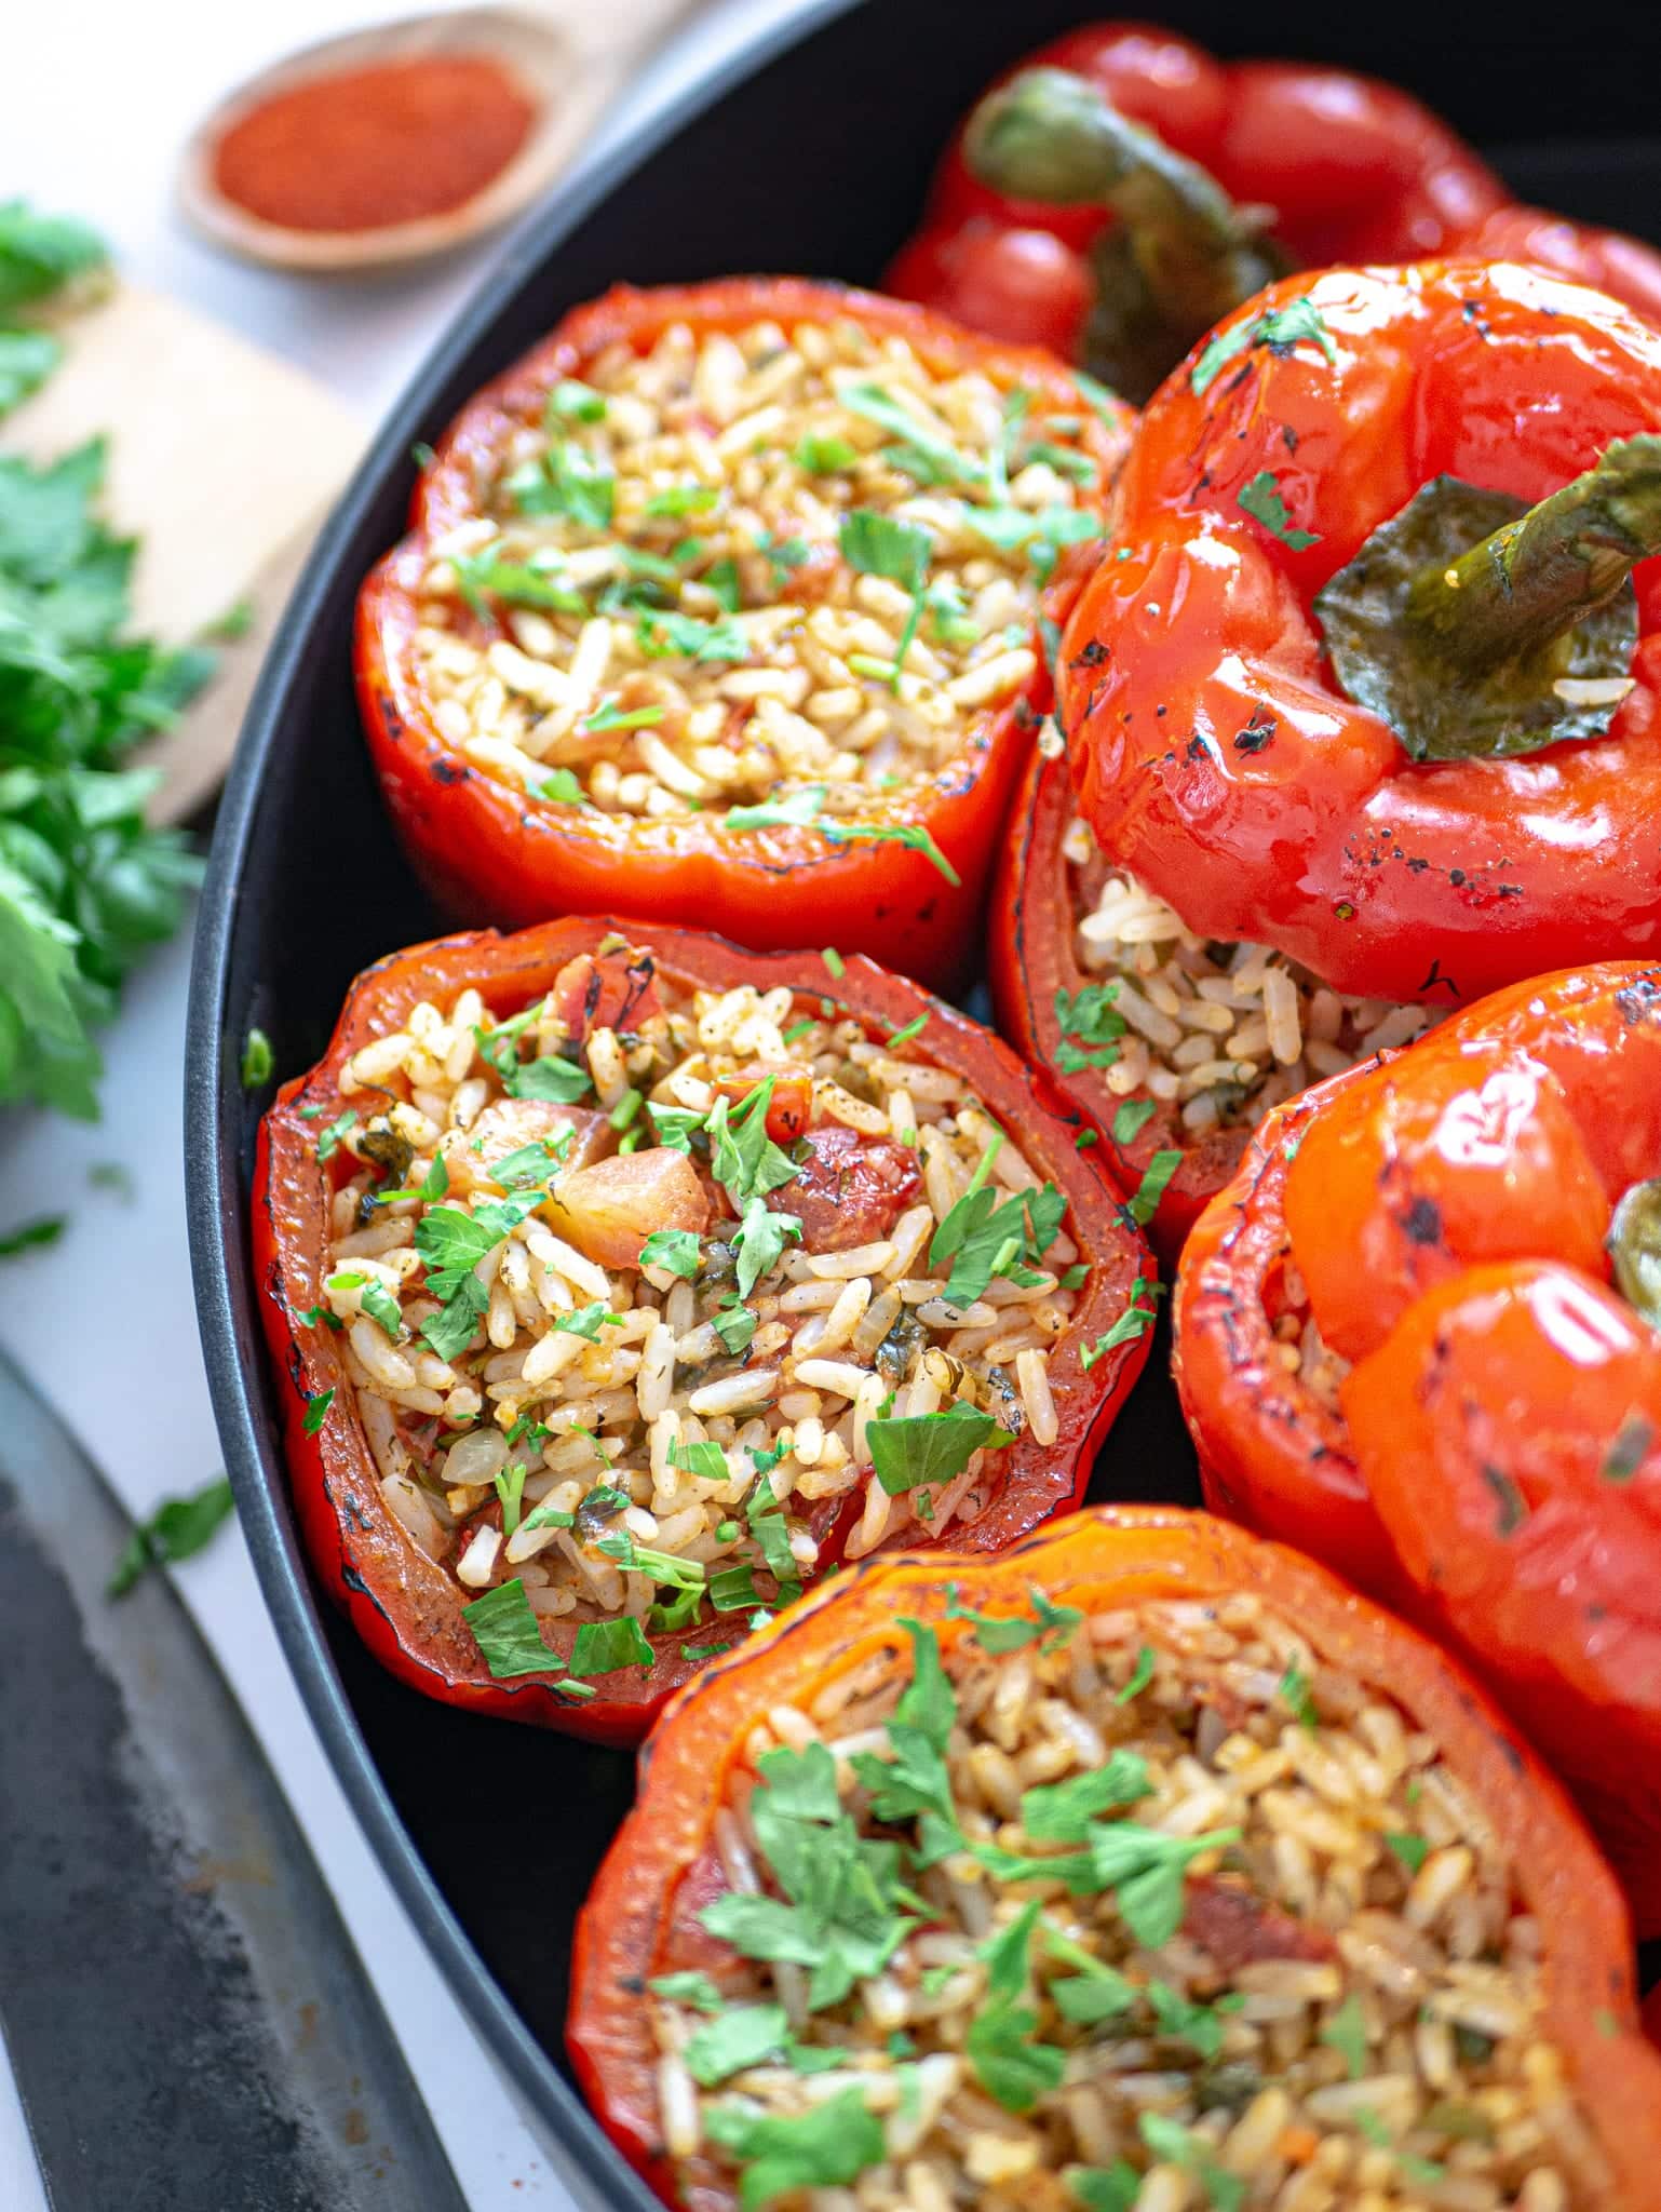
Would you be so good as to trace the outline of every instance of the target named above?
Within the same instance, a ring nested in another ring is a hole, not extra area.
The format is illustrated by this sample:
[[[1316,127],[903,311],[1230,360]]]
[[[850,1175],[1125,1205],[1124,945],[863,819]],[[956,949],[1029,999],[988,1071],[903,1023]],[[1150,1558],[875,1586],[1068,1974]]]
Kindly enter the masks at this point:
[[[1040,586],[1095,531],[1093,425],[852,321],[613,347],[431,549],[433,719],[608,814],[852,825],[1031,684]]]

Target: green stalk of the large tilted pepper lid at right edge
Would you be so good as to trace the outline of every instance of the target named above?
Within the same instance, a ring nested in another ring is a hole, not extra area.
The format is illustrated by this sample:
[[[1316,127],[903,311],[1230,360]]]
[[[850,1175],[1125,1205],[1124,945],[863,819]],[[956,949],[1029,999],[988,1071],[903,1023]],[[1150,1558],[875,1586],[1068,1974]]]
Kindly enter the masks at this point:
[[[1597,467],[1442,566],[1420,568],[1407,622],[1462,677],[1544,659],[1661,553],[1661,436],[1617,438]]]

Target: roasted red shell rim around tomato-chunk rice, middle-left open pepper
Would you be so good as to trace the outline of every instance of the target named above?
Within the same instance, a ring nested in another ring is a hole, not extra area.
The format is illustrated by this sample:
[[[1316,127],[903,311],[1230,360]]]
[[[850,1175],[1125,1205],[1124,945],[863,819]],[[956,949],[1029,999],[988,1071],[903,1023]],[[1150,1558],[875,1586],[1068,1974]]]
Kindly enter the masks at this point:
[[[453,1002],[469,984],[500,1018],[544,998],[562,967],[593,953],[606,936],[644,945],[657,973],[688,989],[730,991],[752,982],[759,991],[787,984],[805,998],[829,998],[887,1037],[920,1015],[927,1026],[913,1051],[960,1075],[993,1119],[1020,1137],[1037,1175],[1068,1199],[1068,1232],[1090,1265],[1075,1323],[1051,1352],[1059,1436],[1040,1447],[1017,1438],[997,1453],[997,1495],[953,1542],[969,1551],[1000,1551],[1084,1495],[1101,1447],[1130,1385],[1148,1356],[1146,1332],[1117,1345],[1088,1371],[1082,1352],[1132,1303],[1152,1261],[1124,1201],[1095,1155],[1073,1144],[1066,1102],[1033,1068],[955,1006],[944,1006],[902,975],[854,958],[832,978],[818,956],[750,953],[723,938],[650,927],[608,916],[544,922],[518,936],[493,931],[440,938],[391,953],[367,969],[347,993],[323,1060],[283,1084],[261,1121],[254,1161],[254,1276],[261,1318],[276,1376],[288,1442],[294,1509],[312,1564],[330,1595],[345,1608],[369,1650],[400,1681],[447,1705],[557,1728],[602,1743],[637,1743],[670,1690],[697,1661],[681,1657],[688,1630],[652,1635],[657,1663],[599,1677],[599,1694],[573,1703],[553,1692],[564,1672],[571,1632],[549,1630],[549,1677],[495,1681],[462,1619],[453,1577],[427,1559],[380,1500],[374,1453],[352,1407],[341,1338],[321,1323],[305,1323],[323,1298],[327,1265],[327,1203],[349,1161],[336,1152],[318,1161],[316,1137],[341,1113],[341,1071],[372,1037],[387,1035],[422,1000]],[[323,1391],[334,1391],[316,1433],[305,1418]],[[814,1522],[827,1557],[840,1557],[849,1533],[849,1502],[832,1500]]]

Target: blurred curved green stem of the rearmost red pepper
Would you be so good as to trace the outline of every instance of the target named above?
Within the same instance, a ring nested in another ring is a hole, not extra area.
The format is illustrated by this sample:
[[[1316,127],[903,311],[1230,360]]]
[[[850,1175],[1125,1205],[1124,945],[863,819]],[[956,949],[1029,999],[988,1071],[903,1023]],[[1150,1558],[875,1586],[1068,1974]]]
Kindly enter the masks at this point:
[[[1130,400],[1146,400],[1197,338],[1285,274],[1267,210],[1236,206],[1070,69],[1026,69],[986,93],[964,161],[1009,199],[1117,215],[1093,248],[1086,365]]]

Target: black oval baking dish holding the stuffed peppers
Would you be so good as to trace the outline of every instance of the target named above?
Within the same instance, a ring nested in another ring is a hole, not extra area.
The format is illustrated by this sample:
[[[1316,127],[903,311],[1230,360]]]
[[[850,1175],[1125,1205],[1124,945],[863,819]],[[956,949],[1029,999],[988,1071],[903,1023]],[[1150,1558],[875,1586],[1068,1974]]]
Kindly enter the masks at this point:
[[[1298,53],[1396,77],[1495,153],[1513,186],[1654,230],[1661,31],[1617,0],[1561,18],[1172,7],[1225,53]],[[874,281],[913,223],[953,119],[997,69],[1088,20],[1077,0],[823,0],[584,168],[509,243],[376,438],[316,544],[263,670],[219,812],[186,1075],[190,1237],[208,1371],[243,1528],[283,1648],[358,1818],[480,2033],[586,2205],[648,2208],[564,2066],[571,1918],[630,1794],[621,1752],[469,1719],[403,1690],[321,1601],[301,1553],[254,1316],[237,1079],[259,1024],[279,1073],[323,1048],[349,978],[440,925],[376,799],[356,728],[352,604],[400,533],[416,440],[566,307],[617,279],[787,270]],[[1646,53],[1634,53],[1643,44]],[[1097,1469],[1099,1495],[1194,1498],[1159,1347]]]

